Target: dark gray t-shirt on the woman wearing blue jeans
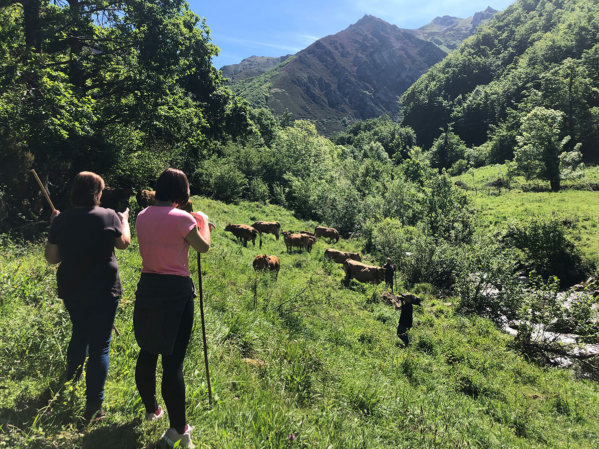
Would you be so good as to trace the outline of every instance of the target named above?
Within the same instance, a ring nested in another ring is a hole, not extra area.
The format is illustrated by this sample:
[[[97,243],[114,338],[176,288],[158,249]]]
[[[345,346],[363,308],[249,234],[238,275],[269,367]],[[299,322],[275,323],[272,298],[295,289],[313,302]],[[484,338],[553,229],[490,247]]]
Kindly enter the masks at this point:
[[[123,234],[119,216],[98,206],[60,213],[50,226],[48,242],[58,245],[58,297],[99,299],[122,294],[114,238]]]

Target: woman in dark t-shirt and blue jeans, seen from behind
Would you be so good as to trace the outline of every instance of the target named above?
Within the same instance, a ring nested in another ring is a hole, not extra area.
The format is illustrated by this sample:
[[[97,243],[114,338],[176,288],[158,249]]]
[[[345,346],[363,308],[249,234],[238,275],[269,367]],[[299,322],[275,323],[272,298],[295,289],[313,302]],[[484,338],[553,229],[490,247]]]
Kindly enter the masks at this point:
[[[110,338],[122,293],[114,248],[131,242],[129,210],[116,213],[99,207],[104,181],[92,172],[75,177],[72,208],[53,211],[44,255],[60,263],[56,272],[58,296],[71,317],[72,333],[66,351],[69,378],[79,378],[89,353],[86,375],[87,420],[101,420],[104,384],[108,374]]]

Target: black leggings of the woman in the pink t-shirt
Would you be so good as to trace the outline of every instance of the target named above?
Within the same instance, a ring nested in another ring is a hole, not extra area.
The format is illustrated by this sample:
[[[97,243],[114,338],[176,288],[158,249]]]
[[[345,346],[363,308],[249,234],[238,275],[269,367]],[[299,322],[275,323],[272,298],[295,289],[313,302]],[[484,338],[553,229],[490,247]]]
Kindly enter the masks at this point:
[[[183,359],[193,328],[193,299],[187,301],[181,315],[179,332],[173,348],[173,354],[162,354],[162,399],[167,406],[171,427],[183,433],[185,419],[185,381],[183,379]],[[156,362],[158,354],[140,350],[135,366],[135,383],[140,391],[146,412],[158,409],[156,401]]]

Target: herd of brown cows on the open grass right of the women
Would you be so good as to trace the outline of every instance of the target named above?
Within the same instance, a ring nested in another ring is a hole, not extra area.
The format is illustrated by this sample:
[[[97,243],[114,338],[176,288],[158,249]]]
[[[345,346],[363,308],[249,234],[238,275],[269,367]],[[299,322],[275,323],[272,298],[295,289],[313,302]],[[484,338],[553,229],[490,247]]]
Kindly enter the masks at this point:
[[[250,240],[256,246],[256,237],[258,236],[261,248],[262,234],[273,234],[277,240],[279,240],[279,235],[282,234],[288,253],[293,248],[299,248],[299,250],[305,250],[309,253],[314,243],[316,243],[316,238],[319,237],[328,238],[330,243],[337,243],[340,238],[337,229],[324,226],[316,226],[314,232],[307,230],[295,233],[287,230],[281,232],[279,222],[255,222],[251,226],[243,224],[231,225],[231,223],[227,223],[225,231],[231,232],[238,241],[243,242],[244,247],[247,247],[247,242]],[[324,258],[325,260],[332,260],[332,262],[343,265],[346,283],[349,283],[352,279],[363,283],[380,283],[385,280],[385,268],[361,263],[362,256],[360,253],[350,253],[349,251],[328,248],[325,250]],[[281,261],[277,256],[258,254],[253,260],[252,266],[255,271],[273,271],[278,277]]]

